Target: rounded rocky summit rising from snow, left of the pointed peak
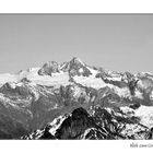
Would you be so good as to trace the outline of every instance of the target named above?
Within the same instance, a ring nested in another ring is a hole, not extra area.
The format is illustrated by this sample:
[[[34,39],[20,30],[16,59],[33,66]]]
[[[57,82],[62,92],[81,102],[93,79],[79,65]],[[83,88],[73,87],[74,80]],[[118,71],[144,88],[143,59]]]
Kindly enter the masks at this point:
[[[46,62],[43,68],[38,71],[39,75],[50,75],[59,72],[59,66],[56,61]]]

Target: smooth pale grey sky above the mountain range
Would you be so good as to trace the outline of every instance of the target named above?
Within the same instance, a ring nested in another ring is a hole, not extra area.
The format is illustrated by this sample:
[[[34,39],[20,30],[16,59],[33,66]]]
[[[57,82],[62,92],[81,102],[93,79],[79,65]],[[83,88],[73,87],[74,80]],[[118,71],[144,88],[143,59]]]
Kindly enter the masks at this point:
[[[0,14],[0,73],[72,57],[153,72],[153,14]]]

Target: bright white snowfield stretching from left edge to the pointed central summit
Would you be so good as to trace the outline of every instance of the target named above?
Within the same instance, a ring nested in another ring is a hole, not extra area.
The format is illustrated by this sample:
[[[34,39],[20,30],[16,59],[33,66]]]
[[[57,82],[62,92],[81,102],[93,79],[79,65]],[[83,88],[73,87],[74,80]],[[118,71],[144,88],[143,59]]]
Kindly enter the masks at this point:
[[[34,84],[46,85],[46,86],[59,86],[59,85],[68,85],[69,74],[68,72],[54,73],[50,75],[39,75],[39,68],[33,68],[30,71],[22,71],[19,74],[0,74],[0,85],[2,86],[4,83],[10,82],[12,87],[20,85],[22,79],[26,78],[32,81]],[[17,83],[17,84],[16,84]]]

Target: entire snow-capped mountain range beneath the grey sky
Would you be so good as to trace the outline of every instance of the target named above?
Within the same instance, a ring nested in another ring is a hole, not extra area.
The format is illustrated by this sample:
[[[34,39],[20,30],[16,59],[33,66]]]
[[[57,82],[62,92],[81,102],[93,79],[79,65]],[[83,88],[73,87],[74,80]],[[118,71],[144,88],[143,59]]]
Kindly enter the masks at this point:
[[[97,106],[113,121],[103,114],[94,116]],[[70,125],[75,122],[75,111],[83,114],[87,125],[79,123],[73,131]],[[42,68],[0,74],[0,139],[46,139],[46,132],[50,139],[146,139],[137,132],[150,133],[152,118],[153,74],[149,72],[114,72],[73,58],[61,64],[48,61]],[[68,119],[72,133],[63,126]],[[119,129],[115,137],[109,127],[114,125],[126,129]]]

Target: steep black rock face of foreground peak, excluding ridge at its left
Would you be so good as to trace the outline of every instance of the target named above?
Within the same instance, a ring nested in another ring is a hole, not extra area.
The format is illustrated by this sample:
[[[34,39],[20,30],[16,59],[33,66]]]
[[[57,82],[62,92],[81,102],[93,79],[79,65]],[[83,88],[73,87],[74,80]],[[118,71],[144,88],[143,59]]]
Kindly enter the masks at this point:
[[[76,139],[84,130],[93,126],[94,121],[90,118],[87,111],[83,108],[76,108],[72,111],[72,115],[62,122],[55,137],[63,140]]]

